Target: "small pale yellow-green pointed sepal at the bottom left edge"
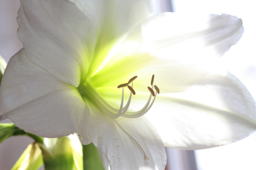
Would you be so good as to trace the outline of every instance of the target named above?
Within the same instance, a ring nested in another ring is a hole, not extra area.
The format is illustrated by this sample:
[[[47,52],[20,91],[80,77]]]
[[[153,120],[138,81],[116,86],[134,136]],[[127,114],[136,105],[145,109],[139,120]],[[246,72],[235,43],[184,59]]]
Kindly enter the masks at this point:
[[[41,149],[37,142],[28,145],[11,170],[36,170],[43,164]]]

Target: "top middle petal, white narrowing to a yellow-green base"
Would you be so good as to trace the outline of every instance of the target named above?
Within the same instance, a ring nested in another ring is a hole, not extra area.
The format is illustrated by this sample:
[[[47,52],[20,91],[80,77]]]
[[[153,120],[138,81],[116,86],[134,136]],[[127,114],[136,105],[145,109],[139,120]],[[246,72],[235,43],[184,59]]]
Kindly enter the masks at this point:
[[[134,26],[153,15],[149,0],[72,0],[97,29],[97,44],[90,63],[90,74],[102,65],[111,48]]]

